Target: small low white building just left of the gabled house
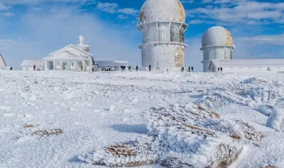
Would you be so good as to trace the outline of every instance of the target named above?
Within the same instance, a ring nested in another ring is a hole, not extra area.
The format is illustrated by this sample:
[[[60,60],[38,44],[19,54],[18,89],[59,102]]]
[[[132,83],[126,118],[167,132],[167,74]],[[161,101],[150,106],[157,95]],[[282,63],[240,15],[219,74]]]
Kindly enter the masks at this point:
[[[35,66],[35,68],[34,68]],[[45,70],[44,60],[23,60],[20,64],[23,71]]]

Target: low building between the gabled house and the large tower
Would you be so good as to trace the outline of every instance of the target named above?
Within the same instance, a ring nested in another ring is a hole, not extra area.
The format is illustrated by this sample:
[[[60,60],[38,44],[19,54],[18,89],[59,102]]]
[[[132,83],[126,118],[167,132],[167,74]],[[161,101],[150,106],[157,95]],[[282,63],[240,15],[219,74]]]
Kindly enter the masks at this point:
[[[126,69],[129,67],[129,61],[127,60],[95,60],[95,65],[97,70],[110,69],[121,70],[121,66],[125,66]]]

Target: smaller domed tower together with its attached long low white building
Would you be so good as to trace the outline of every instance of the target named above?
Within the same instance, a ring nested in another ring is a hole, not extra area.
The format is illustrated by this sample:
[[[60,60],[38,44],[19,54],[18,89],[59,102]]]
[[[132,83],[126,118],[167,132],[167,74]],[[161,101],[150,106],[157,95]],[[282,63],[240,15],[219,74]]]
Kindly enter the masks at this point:
[[[202,37],[203,72],[284,73],[284,59],[232,59],[232,34],[224,27],[208,29]]]

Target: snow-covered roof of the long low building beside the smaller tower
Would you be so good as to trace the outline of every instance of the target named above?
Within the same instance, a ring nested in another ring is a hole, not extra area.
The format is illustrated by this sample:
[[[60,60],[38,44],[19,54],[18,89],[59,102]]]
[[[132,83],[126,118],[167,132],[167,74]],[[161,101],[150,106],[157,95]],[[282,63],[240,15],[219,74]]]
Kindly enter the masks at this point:
[[[284,59],[233,59],[211,61],[215,66],[223,67],[284,66]]]

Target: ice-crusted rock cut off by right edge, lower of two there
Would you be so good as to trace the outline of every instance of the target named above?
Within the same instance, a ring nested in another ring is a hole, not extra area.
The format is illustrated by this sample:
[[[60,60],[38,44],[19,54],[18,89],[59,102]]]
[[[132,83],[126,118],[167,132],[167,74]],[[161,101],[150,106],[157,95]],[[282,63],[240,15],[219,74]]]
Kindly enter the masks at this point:
[[[270,117],[268,117],[266,126],[276,131],[284,131],[284,98],[279,98],[273,107]]]

